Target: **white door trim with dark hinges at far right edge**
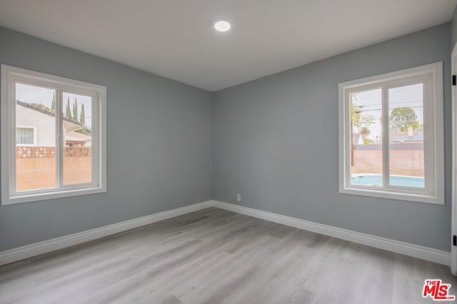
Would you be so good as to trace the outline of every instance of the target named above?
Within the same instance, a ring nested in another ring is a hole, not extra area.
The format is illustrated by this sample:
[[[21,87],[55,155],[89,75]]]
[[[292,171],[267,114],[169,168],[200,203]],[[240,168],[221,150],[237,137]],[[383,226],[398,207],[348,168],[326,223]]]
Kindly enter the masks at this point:
[[[457,44],[451,54],[451,74],[457,73]],[[451,83],[452,91],[452,210],[451,210],[451,272],[457,275],[457,247],[453,235],[457,235],[457,86]]]

